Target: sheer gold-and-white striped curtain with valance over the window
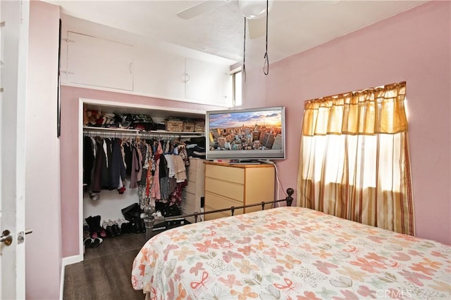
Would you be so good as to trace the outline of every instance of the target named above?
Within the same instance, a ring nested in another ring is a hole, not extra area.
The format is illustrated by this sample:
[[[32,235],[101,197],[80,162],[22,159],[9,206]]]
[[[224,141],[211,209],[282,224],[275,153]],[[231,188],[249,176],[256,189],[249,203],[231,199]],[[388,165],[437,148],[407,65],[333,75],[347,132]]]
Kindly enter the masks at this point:
[[[414,235],[406,83],[305,103],[297,204]]]

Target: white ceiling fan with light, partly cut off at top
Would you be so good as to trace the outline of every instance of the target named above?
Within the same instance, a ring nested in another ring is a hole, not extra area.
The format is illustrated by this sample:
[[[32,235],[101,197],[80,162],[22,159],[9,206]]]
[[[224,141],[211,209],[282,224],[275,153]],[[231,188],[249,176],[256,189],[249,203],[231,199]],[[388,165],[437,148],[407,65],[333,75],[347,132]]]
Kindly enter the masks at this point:
[[[206,0],[177,13],[179,18],[188,20],[203,13],[208,13],[224,5],[237,5],[242,15],[246,17],[249,28],[249,38],[262,37],[266,32],[266,0]],[[271,11],[273,0],[268,2],[268,12]]]

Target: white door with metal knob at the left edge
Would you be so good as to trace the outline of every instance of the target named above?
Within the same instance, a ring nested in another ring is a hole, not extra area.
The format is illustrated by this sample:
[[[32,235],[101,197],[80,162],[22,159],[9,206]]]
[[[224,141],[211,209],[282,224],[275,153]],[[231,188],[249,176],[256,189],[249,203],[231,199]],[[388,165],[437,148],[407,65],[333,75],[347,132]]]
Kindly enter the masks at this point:
[[[30,3],[0,1],[0,299],[25,299],[25,100]],[[8,239],[6,239],[8,240]]]

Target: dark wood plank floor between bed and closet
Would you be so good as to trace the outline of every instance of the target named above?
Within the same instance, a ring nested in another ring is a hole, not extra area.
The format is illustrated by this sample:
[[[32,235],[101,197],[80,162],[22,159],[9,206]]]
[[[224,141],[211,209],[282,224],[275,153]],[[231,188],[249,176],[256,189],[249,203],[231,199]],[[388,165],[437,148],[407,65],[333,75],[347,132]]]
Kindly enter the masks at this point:
[[[145,233],[104,239],[85,249],[85,260],[66,266],[63,300],[144,299],[131,284],[132,263],[146,242]]]

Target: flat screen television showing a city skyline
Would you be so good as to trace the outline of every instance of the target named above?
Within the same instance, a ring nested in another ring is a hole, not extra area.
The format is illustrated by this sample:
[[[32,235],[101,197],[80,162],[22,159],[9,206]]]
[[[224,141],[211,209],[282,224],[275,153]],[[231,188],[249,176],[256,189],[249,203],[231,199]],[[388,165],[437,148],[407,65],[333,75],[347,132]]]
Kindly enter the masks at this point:
[[[285,159],[285,107],[211,110],[205,115],[206,159]]]

